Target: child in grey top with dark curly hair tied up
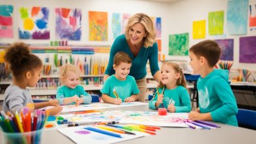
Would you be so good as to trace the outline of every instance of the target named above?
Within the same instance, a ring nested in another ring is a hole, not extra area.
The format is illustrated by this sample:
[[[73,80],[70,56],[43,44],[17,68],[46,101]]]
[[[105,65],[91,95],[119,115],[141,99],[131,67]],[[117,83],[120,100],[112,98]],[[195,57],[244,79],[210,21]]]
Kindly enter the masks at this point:
[[[12,72],[12,84],[5,90],[5,99],[3,103],[4,111],[20,111],[26,105],[32,105],[32,96],[27,86],[33,87],[41,79],[43,63],[30,52],[30,49],[24,43],[14,43],[5,54],[5,61]],[[32,109],[41,109],[47,106],[56,106],[56,99],[42,103],[33,103]],[[49,115],[57,115],[62,111],[60,105],[53,107]]]

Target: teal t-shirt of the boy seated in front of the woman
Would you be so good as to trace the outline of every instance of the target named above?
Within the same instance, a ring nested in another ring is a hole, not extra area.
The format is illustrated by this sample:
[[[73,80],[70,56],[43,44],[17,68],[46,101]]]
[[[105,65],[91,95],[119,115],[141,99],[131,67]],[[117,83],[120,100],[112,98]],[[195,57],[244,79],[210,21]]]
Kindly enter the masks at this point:
[[[124,81],[116,79],[115,75],[108,77],[100,92],[102,94],[107,94],[111,98],[116,98],[113,89],[116,90],[116,93],[118,94],[119,98],[122,99],[122,101],[129,98],[131,95],[139,94],[140,92],[134,77],[129,75],[127,75]]]

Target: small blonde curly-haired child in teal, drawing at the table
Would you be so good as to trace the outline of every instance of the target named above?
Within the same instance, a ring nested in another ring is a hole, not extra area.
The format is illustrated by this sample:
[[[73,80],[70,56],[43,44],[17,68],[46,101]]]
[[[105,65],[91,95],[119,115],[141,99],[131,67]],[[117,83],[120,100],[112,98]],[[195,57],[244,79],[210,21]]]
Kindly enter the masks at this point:
[[[56,99],[60,105],[91,103],[91,96],[79,85],[79,68],[65,64],[60,72],[60,81],[63,86],[57,89]]]

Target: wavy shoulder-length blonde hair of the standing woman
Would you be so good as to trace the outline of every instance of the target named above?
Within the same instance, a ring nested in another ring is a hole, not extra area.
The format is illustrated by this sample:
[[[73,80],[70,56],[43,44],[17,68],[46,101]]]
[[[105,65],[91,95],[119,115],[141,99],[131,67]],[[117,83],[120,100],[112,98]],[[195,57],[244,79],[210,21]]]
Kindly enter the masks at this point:
[[[148,48],[148,46],[153,46],[153,44],[156,42],[156,29],[154,27],[154,23],[152,22],[152,19],[148,15],[143,13],[134,14],[129,18],[128,23],[125,26],[126,39],[127,40],[130,39],[129,30],[131,26],[137,23],[140,23],[145,27],[146,37],[144,37],[143,46],[145,48]]]

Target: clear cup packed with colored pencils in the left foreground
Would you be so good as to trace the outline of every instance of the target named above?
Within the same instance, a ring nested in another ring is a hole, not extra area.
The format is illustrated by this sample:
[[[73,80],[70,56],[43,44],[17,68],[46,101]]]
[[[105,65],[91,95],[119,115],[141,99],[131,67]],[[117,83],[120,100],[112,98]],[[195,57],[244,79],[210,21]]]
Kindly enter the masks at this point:
[[[20,113],[1,111],[0,128],[5,143],[41,143],[41,134],[47,121],[45,111],[22,109]]]

